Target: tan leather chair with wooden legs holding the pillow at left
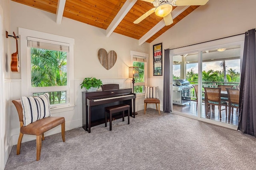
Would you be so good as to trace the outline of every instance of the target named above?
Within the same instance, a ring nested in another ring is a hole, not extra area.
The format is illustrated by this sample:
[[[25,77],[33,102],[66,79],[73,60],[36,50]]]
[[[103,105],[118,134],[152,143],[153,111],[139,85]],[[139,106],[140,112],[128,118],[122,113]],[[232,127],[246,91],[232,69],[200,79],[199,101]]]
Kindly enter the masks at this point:
[[[20,145],[22,137],[26,135],[36,135],[36,160],[40,160],[42,141],[44,141],[44,132],[61,125],[61,135],[62,141],[65,142],[65,119],[64,117],[45,117],[27,126],[23,123],[23,109],[21,105],[21,100],[12,100],[12,103],[18,111],[18,116],[20,120],[20,136],[17,144],[17,154],[20,154]]]

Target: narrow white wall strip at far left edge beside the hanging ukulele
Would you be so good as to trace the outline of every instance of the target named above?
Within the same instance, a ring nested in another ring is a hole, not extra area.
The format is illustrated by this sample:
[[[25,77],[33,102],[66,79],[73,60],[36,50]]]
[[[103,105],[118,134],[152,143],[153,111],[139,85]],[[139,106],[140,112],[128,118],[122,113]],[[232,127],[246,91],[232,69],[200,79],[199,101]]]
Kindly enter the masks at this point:
[[[10,38],[5,37],[5,31],[10,31],[10,4],[8,0],[0,0],[0,169],[4,169],[7,162],[10,147],[10,104],[8,94],[10,92]],[[6,97],[7,96],[7,97]]]

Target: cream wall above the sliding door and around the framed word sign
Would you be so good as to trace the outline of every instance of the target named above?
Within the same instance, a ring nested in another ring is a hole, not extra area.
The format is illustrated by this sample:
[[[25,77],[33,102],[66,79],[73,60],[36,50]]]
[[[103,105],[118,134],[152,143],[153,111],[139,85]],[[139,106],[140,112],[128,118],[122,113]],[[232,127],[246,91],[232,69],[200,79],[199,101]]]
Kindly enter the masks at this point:
[[[206,5],[198,7],[182,21],[152,41],[150,43],[150,56],[153,55],[153,45],[162,43],[164,64],[164,49],[173,49],[237,35],[253,29],[256,27],[255,6],[255,0],[246,0],[242,4],[240,0],[209,0]],[[149,65],[149,85],[160,86],[160,94],[162,94],[163,80],[159,79],[163,79],[163,76],[153,76],[152,57],[149,59],[149,64],[151,64]]]

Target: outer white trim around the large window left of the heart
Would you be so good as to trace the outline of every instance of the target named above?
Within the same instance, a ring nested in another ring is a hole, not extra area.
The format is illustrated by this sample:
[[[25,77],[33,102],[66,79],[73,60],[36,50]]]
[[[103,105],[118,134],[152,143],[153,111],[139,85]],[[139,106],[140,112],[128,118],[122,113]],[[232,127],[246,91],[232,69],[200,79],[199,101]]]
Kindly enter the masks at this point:
[[[68,82],[69,94],[67,91],[67,103],[68,106],[64,107],[74,107],[74,39],[63,37],[60,35],[54,35],[50,33],[43,33],[40,31],[34,31],[30,29],[18,28],[18,33],[20,35],[20,69],[21,69],[21,96],[32,96],[32,89],[30,88],[30,59],[28,55],[30,54],[30,48],[28,47],[28,38],[35,37],[39,39],[45,39],[50,41],[56,41],[60,43],[66,43],[69,45],[69,56],[68,56]],[[29,75],[29,76],[28,76]],[[62,107],[60,107],[62,108]],[[55,108],[57,110],[57,108]],[[62,109],[63,110],[63,109]]]

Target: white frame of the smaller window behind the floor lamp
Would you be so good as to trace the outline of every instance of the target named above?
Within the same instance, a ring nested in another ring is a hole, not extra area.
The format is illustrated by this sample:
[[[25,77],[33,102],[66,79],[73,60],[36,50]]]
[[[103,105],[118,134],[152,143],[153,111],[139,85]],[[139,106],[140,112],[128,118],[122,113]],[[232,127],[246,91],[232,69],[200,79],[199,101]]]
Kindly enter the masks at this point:
[[[137,51],[130,51],[130,55],[131,55],[131,66],[133,65],[134,57],[146,59],[146,61],[144,62],[144,82],[138,82],[138,83],[135,82],[134,86],[144,86],[144,87],[147,86],[148,54],[137,52]],[[137,96],[140,96],[140,95],[145,95],[145,90],[143,90],[143,93],[137,93]]]

